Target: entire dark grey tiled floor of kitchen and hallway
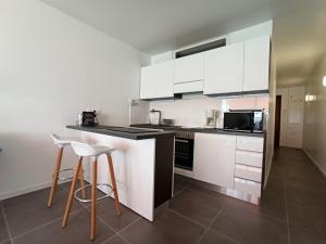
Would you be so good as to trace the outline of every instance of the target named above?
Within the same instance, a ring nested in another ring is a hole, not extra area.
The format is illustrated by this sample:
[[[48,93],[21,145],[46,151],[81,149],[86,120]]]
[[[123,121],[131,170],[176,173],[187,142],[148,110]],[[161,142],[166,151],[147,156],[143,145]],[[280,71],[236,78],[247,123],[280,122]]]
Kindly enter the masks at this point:
[[[90,243],[89,207],[74,204],[61,228],[67,185],[53,207],[49,190],[0,203],[0,244]],[[303,152],[280,149],[263,192],[262,205],[237,201],[184,181],[175,182],[168,209],[153,223],[112,200],[98,204],[98,236],[105,244],[325,244],[326,179]]]

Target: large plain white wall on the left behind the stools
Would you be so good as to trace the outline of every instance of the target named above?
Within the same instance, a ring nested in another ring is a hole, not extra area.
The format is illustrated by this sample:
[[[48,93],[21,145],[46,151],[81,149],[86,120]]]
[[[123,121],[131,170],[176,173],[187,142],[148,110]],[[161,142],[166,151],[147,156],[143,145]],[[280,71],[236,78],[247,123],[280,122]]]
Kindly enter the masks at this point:
[[[48,185],[49,133],[71,134],[82,110],[127,125],[148,60],[40,1],[0,0],[0,198]]]

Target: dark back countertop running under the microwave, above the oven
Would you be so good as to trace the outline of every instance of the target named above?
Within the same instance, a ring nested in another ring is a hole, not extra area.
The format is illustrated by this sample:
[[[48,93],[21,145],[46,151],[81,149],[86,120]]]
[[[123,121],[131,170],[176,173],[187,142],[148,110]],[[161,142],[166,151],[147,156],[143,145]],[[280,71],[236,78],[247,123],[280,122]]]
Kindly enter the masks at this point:
[[[135,124],[130,125],[130,127],[137,128],[150,128],[150,129],[161,129],[164,131],[191,131],[191,132],[200,132],[200,133],[220,133],[220,134],[234,134],[234,136],[246,136],[246,137],[256,137],[264,138],[264,132],[243,132],[243,131],[233,131],[233,130],[224,130],[216,128],[185,128],[180,126],[165,126],[165,125],[151,125],[151,124]]]

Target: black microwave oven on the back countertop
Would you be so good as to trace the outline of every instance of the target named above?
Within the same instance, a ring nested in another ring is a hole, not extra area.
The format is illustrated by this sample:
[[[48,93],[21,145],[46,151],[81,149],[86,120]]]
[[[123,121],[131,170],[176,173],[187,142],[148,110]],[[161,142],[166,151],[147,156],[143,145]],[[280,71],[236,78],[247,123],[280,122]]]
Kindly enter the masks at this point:
[[[264,111],[230,111],[224,113],[224,129],[263,132],[264,131]]]

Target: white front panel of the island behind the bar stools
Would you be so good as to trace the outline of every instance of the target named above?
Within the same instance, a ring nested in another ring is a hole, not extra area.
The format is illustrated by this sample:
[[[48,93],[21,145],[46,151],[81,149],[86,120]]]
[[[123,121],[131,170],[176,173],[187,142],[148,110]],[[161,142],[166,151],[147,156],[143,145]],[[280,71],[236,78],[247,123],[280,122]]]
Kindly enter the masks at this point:
[[[120,202],[153,221],[155,139],[130,140],[92,132],[83,132],[83,139],[117,149],[112,158]],[[98,167],[98,182],[111,183],[105,156],[99,157]],[[86,171],[89,172],[89,167]],[[109,192],[105,187],[99,189]]]

